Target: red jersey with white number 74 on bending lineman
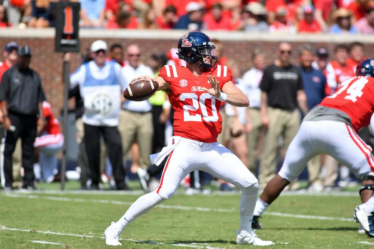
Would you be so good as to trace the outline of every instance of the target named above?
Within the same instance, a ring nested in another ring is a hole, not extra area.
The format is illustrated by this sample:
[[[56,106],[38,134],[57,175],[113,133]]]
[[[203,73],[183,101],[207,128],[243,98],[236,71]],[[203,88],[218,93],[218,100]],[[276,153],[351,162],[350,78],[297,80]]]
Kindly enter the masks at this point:
[[[341,83],[331,96],[325,97],[322,106],[348,114],[355,131],[370,124],[374,112],[374,78],[355,76]]]

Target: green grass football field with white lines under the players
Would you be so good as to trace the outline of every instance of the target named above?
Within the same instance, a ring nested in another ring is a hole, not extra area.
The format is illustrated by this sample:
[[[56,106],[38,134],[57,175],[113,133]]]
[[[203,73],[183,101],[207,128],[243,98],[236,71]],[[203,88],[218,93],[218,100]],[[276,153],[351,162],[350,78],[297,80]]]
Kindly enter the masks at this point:
[[[67,189],[78,186],[69,182]],[[140,196],[139,192],[60,193],[51,191],[59,188],[55,183],[40,187],[50,190],[0,191],[0,248],[112,248],[102,238],[105,228]],[[374,239],[358,234],[358,224],[351,219],[360,202],[358,191],[341,193],[347,196],[286,193],[269,207],[261,218],[264,228],[256,233],[276,243],[267,248],[374,248]],[[187,196],[178,190],[130,224],[117,248],[248,248],[235,243],[239,197],[239,192]],[[285,214],[291,217],[281,216]]]

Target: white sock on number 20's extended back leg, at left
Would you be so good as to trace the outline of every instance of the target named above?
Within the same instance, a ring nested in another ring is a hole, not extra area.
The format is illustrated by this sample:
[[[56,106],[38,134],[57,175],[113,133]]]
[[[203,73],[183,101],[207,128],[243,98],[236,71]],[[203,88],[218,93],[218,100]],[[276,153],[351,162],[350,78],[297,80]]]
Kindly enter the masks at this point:
[[[144,194],[132,203],[126,213],[114,225],[122,231],[131,221],[150,211],[154,206],[159,205],[164,200],[165,199],[162,199],[156,192]]]

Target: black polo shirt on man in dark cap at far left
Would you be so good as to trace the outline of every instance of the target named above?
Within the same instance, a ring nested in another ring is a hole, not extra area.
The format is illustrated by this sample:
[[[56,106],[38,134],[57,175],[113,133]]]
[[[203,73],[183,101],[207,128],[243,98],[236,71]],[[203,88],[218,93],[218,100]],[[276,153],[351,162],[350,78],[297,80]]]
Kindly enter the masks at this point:
[[[46,100],[39,75],[30,68],[20,71],[18,65],[8,69],[1,78],[0,100],[8,102],[8,112],[37,115]]]

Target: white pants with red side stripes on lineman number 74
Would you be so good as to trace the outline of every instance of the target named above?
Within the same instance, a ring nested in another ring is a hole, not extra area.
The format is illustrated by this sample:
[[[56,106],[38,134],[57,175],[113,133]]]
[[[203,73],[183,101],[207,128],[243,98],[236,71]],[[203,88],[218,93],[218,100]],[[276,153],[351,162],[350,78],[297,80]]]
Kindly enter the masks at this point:
[[[365,175],[374,175],[374,158],[371,152],[371,147],[344,122],[303,121],[288,147],[278,174],[292,182],[310,159],[319,154],[328,154],[362,179]]]

